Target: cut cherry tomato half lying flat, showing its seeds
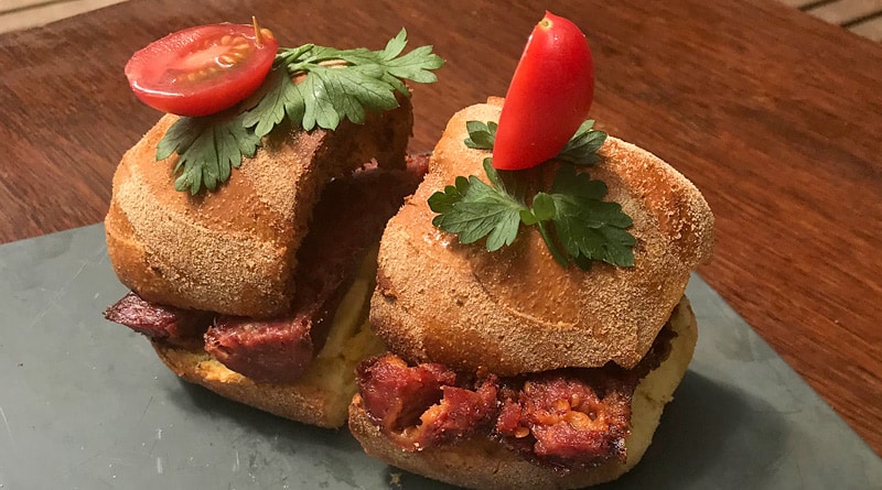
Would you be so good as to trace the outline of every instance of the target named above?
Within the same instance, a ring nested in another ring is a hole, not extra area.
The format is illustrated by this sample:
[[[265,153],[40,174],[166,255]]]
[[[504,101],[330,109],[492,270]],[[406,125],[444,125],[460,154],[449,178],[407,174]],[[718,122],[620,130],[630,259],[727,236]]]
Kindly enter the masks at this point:
[[[279,43],[269,30],[214,24],[190,28],[150,43],[126,64],[135,95],[179,116],[207,116],[254,92],[272,67]]]

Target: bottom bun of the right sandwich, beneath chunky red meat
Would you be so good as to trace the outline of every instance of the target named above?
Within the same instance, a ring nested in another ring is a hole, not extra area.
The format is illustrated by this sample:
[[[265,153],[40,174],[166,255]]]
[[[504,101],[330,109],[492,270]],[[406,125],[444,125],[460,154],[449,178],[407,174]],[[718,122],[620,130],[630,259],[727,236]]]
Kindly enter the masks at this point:
[[[698,327],[684,296],[671,317],[677,336],[668,358],[641,381],[633,398],[626,461],[569,472],[534,465],[502,444],[474,437],[461,444],[406,451],[375,425],[356,395],[349,405],[349,429],[365,451],[405,470],[461,487],[485,490],[576,489],[614,480],[633,468],[649,447],[665,405],[673,400],[695,351]]]

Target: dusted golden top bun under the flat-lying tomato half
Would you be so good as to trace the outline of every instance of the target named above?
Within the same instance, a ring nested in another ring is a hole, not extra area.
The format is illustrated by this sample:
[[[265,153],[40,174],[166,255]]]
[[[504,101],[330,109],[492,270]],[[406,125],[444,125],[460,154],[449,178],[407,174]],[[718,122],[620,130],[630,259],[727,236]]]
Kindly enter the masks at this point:
[[[174,123],[163,117],[126,152],[105,219],[119,280],[147,301],[250,317],[290,307],[295,252],[324,184],[375,157],[405,165],[410,100],[335,131],[277,131],[226,184],[191,196],[174,190],[178,156],[155,162]]]

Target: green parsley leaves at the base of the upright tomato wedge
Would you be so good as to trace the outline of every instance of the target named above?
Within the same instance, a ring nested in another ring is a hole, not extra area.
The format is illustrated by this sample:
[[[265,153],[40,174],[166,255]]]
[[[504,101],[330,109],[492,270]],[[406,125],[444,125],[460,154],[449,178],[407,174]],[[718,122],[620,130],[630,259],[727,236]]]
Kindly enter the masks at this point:
[[[600,161],[596,151],[606,133],[585,121],[553,159],[560,163],[548,192],[537,192],[528,200],[524,171],[497,171],[492,159],[484,159],[490,184],[470,175],[459,176],[453,185],[429,198],[437,213],[432,224],[456,233],[462,243],[486,238],[493,252],[510,246],[520,225],[536,226],[551,255],[563,266],[576,264],[587,270],[593,260],[614,265],[634,265],[634,237],[627,231],[632,219],[617,203],[603,200],[607,188],[576,166]],[[495,122],[469,121],[469,148],[492,150]]]

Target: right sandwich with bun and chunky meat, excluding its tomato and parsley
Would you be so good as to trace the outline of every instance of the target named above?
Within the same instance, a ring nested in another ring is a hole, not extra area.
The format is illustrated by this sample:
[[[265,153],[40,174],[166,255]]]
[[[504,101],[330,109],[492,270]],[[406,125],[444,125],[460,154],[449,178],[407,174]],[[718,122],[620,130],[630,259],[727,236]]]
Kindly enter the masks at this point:
[[[372,328],[389,352],[358,368],[349,428],[386,462],[475,489],[564,489],[639,461],[697,339],[684,296],[710,260],[713,216],[660,159],[609,138],[590,167],[633,218],[634,265],[558,264],[534,228],[488,253],[432,225],[429,197],[483,175],[453,116],[429,174],[379,248]]]

